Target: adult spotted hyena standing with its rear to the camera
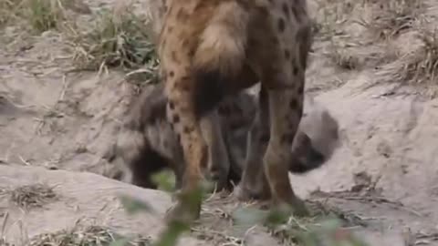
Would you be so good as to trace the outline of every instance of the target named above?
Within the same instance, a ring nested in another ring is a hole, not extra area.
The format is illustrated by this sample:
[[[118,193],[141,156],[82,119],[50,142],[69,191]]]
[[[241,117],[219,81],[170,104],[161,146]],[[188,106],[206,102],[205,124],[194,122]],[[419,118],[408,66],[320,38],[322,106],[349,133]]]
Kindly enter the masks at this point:
[[[168,98],[167,118],[183,147],[186,165],[182,196],[199,187],[208,157],[203,121],[225,97],[261,84],[257,117],[250,130],[241,184],[248,170],[263,169],[263,189],[275,205],[307,213],[295,195],[288,169],[297,162],[290,149],[303,115],[305,72],[312,44],[306,0],[173,0],[163,17],[158,54]],[[212,123],[206,123],[212,125]],[[260,153],[263,153],[260,155]],[[251,157],[254,156],[254,157]],[[263,165],[258,159],[263,158]],[[253,161],[255,160],[255,161]],[[180,200],[169,219],[193,220],[196,206]]]

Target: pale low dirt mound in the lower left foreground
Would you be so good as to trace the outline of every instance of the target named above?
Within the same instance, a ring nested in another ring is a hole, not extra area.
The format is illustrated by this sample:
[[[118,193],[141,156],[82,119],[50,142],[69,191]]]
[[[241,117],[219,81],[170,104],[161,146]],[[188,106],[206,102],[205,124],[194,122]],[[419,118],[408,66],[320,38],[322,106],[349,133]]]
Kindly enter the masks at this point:
[[[5,223],[3,237],[17,245],[43,233],[73,230],[78,224],[105,226],[126,236],[141,234],[153,239],[162,229],[162,218],[148,213],[130,216],[118,196],[148,202],[158,216],[162,216],[171,205],[170,197],[161,191],[142,190],[97,174],[33,167],[0,166],[0,169],[1,183],[8,184],[1,200]],[[13,196],[20,189],[21,194],[29,195],[23,187],[51,188],[53,199],[40,203],[38,207],[23,209],[16,206]],[[182,243],[195,245],[194,240]]]

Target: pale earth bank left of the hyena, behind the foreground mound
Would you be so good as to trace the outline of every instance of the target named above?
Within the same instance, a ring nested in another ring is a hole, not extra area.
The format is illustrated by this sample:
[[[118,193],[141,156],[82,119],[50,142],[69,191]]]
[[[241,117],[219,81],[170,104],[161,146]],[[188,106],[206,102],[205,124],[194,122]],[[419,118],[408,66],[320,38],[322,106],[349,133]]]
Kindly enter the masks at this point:
[[[68,72],[71,54],[57,32],[27,38],[0,54],[0,160],[107,175],[100,159],[132,87],[118,71]]]

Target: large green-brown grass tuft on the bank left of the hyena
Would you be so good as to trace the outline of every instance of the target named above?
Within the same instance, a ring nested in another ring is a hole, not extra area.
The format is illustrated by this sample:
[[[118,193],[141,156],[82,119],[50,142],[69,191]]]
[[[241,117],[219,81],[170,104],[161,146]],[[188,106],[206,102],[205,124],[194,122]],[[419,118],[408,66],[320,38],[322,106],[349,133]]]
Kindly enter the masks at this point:
[[[158,67],[155,46],[145,21],[125,9],[117,15],[102,10],[95,25],[87,32],[71,32],[69,45],[74,50],[74,63],[79,69],[99,70],[102,67],[143,69],[152,79]]]

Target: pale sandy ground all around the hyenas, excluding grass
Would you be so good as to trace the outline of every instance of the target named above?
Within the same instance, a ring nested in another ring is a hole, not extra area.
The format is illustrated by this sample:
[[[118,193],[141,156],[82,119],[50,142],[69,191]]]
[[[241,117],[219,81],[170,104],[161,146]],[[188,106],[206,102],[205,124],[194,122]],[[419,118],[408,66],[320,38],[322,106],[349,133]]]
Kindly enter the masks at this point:
[[[433,18],[437,5],[427,4],[426,14]],[[319,15],[318,3],[311,6]],[[356,59],[355,67],[339,66],[339,57],[327,56],[333,52],[330,41],[317,39],[308,69],[308,93],[339,120],[342,147],[323,168],[292,177],[294,189],[360,218],[364,224],[355,230],[370,245],[438,245],[438,100],[423,94],[422,86],[400,88],[403,81],[384,79],[394,63],[393,49],[415,48],[415,30],[388,42],[351,45],[365,32],[351,19],[373,14],[372,8],[355,6],[330,12],[347,16],[337,24],[342,34],[335,40],[345,45],[340,51]],[[80,218],[156,236],[162,221],[129,217],[116,195],[149,200],[160,214],[171,205],[170,196],[105,178],[113,167],[101,158],[133,93],[124,74],[68,72],[71,54],[56,31],[35,36],[6,26],[0,32],[0,189],[42,182],[59,194],[43,209],[30,211],[1,196],[0,220],[8,216],[2,236],[20,245],[23,231],[32,237],[71,227]],[[226,245],[221,243],[237,239],[246,245],[281,245],[264,229],[245,234],[230,227],[224,214],[236,207],[230,198],[207,202],[199,231],[181,245]]]

